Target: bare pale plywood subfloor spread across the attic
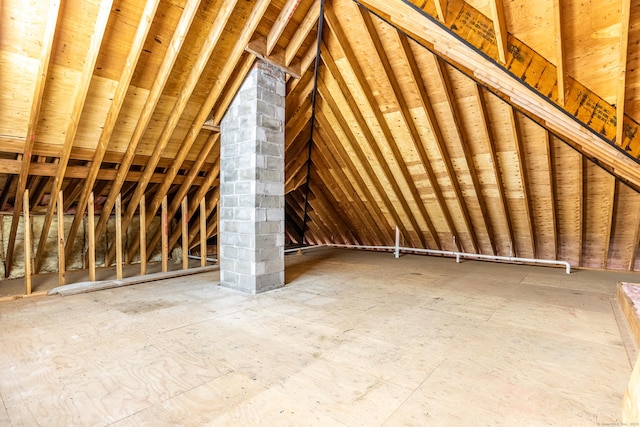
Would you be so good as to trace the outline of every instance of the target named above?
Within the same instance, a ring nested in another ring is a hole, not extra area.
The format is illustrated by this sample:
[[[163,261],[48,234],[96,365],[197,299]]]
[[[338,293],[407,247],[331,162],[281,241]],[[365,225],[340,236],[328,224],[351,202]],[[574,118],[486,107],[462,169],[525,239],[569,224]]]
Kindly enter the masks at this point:
[[[249,296],[218,273],[0,306],[0,425],[620,420],[637,275],[345,250]]]

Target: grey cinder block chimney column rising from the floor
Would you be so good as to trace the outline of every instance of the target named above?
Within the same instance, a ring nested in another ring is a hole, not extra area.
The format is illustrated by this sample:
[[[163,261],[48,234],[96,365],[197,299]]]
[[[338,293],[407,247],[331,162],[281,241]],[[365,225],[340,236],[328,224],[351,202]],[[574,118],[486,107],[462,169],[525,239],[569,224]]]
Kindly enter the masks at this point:
[[[221,123],[220,284],[284,286],[285,75],[257,61]]]

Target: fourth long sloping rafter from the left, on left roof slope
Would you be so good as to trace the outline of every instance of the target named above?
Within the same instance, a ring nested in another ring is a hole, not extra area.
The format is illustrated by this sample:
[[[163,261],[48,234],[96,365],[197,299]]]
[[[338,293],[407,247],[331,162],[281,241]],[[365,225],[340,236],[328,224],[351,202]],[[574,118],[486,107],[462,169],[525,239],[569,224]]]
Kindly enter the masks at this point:
[[[129,168],[131,167],[131,164],[133,162],[136,149],[138,147],[138,144],[142,140],[142,137],[147,130],[147,126],[151,121],[151,117],[153,116],[156,106],[160,101],[162,91],[164,90],[164,87],[169,80],[169,76],[171,75],[171,71],[173,70],[173,65],[175,64],[176,59],[178,59],[180,48],[182,47],[182,44],[186,38],[187,32],[189,31],[191,22],[193,21],[196,12],[198,11],[199,4],[200,0],[189,1],[186,3],[186,6],[182,11],[178,26],[173,34],[173,37],[171,38],[171,42],[169,43],[167,54],[165,55],[162,64],[160,65],[158,74],[154,79],[153,86],[149,91],[147,100],[144,103],[142,112],[140,113],[140,118],[136,123],[136,127],[133,131],[133,134],[131,135],[129,144],[127,144],[125,156],[118,168],[118,174],[115,180],[113,180],[113,182],[111,183],[111,191],[107,196],[107,200],[103,204],[102,215],[100,215],[98,225],[96,226],[96,234],[98,235],[101,235],[107,227],[109,213],[113,209],[113,205],[115,204],[115,200],[118,197],[118,194],[124,194],[124,191],[122,191],[122,186],[125,182],[125,177],[129,172]]]

